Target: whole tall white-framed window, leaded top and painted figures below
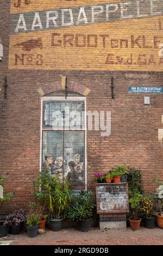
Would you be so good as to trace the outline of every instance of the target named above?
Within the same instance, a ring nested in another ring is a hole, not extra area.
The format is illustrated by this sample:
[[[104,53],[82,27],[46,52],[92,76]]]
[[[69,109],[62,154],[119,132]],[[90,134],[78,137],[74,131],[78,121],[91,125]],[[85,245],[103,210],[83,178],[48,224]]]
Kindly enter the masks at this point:
[[[43,97],[41,169],[67,178],[74,190],[86,188],[85,97]]]

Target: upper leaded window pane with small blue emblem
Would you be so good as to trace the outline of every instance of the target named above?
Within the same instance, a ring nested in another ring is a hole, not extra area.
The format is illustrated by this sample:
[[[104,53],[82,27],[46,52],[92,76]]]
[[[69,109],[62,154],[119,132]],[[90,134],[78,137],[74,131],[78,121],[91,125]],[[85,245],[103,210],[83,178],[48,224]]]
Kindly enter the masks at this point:
[[[43,127],[84,128],[84,102],[52,101],[43,103]]]

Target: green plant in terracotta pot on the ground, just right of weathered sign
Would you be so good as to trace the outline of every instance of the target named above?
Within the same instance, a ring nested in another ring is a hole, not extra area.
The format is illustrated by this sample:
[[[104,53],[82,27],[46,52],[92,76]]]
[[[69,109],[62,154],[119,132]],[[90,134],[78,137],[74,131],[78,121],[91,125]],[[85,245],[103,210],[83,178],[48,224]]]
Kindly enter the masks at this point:
[[[141,218],[138,217],[138,211],[140,210],[141,199],[142,195],[140,193],[130,195],[129,206],[131,217],[129,217],[129,222],[130,227],[133,230],[138,230],[140,228]]]

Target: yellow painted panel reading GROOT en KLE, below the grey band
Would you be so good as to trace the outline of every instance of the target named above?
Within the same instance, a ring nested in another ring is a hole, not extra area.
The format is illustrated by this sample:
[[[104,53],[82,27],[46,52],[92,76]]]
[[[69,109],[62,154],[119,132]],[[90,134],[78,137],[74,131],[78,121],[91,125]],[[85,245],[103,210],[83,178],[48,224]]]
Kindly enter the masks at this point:
[[[9,69],[163,71],[163,31],[126,23],[10,35]]]

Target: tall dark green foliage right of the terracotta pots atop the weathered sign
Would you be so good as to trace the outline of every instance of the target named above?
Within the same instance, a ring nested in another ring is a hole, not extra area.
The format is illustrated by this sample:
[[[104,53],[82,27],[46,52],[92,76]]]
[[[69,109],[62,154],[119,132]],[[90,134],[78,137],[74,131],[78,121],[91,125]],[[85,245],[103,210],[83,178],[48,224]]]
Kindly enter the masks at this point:
[[[128,168],[128,187],[129,197],[135,193],[143,194],[142,173],[141,170],[135,168]]]

